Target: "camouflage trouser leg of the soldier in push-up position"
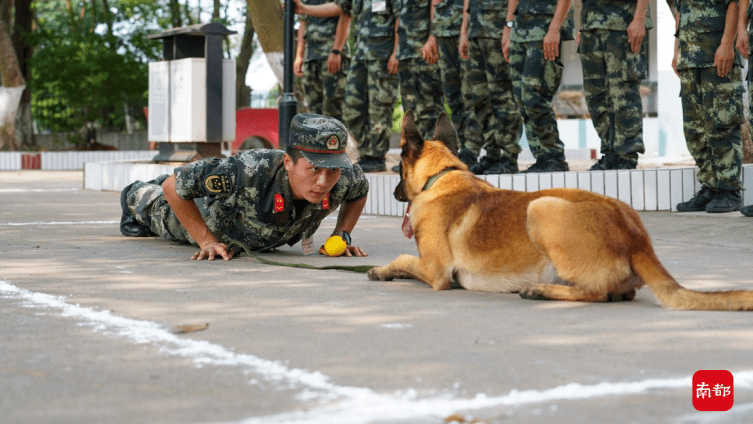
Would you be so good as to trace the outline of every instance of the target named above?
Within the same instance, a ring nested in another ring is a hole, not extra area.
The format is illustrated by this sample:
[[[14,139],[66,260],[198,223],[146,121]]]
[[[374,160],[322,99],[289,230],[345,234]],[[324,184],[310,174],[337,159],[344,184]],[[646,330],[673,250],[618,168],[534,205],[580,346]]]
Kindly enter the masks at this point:
[[[136,181],[124,189],[125,204],[139,224],[165,240],[196,244],[175,216],[162,193],[163,175],[149,182]]]

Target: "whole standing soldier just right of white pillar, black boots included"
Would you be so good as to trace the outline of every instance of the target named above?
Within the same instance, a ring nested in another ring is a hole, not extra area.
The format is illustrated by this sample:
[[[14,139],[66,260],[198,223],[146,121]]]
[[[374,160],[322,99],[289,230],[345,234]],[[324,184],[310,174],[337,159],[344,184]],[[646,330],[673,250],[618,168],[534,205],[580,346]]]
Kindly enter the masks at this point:
[[[676,71],[685,142],[701,190],[680,212],[740,210],[742,61],[735,52],[736,0],[676,0]]]

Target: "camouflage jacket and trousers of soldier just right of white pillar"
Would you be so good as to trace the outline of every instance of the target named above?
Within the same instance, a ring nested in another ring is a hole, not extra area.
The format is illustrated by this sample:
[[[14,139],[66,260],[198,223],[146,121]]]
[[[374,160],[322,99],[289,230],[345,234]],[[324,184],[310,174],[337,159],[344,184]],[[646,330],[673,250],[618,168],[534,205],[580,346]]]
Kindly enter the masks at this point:
[[[742,60],[735,51],[732,70],[723,78],[714,66],[714,54],[732,1],[735,0],[675,1],[680,12],[677,71],[685,141],[699,168],[698,181],[712,191],[743,188]]]

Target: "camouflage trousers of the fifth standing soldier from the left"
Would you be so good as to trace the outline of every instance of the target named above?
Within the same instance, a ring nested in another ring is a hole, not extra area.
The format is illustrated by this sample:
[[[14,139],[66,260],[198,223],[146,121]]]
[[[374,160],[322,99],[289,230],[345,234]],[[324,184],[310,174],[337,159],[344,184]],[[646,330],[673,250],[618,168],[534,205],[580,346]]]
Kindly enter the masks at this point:
[[[510,65],[502,55],[501,40],[498,38],[481,38],[479,45],[486,58],[486,79],[489,87],[489,101],[492,105],[492,120],[495,144],[501,149],[501,155],[512,163],[518,163],[520,136],[523,134],[523,118],[518,111],[512,93]]]

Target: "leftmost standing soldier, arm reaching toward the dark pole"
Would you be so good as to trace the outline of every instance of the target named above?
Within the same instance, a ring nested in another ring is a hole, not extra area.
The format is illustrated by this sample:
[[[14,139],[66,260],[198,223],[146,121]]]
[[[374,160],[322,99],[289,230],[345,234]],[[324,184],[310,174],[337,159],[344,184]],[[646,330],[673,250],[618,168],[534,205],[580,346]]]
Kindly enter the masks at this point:
[[[323,0],[309,0],[321,4]],[[309,111],[342,121],[345,71],[350,66],[350,16],[304,16],[298,28],[293,70],[301,78]]]

